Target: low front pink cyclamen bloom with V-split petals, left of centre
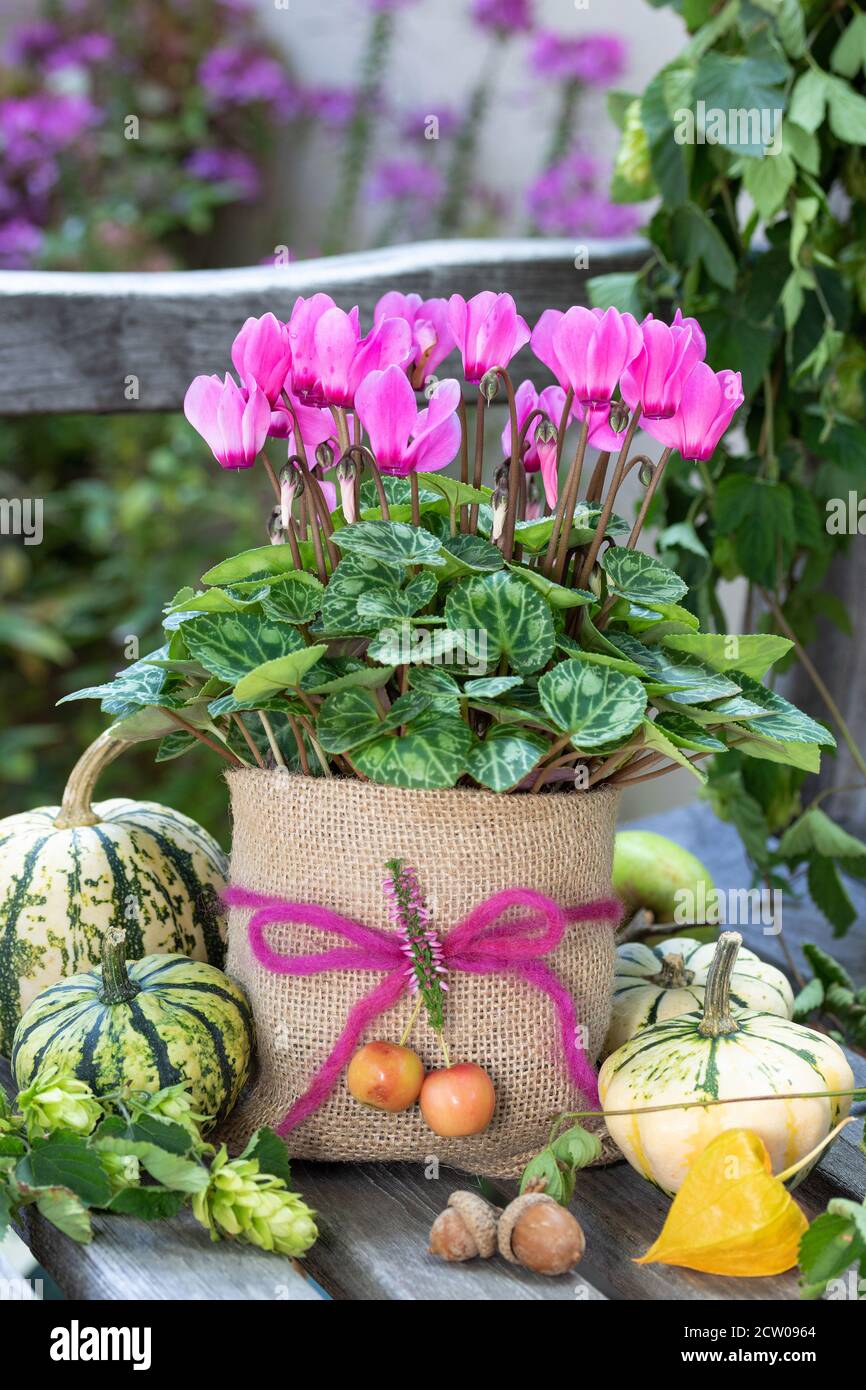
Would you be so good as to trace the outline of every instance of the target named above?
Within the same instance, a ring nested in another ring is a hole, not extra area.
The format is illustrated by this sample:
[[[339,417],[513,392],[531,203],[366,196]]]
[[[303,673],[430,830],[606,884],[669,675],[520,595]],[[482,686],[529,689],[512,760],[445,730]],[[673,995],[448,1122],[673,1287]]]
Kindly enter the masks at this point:
[[[441,381],[428,409],[418,410],[400,367],[368,373],[357,389],[356,409],[381,471],[403,478],[452,463],[460,448],[459,400],[459,382]]]

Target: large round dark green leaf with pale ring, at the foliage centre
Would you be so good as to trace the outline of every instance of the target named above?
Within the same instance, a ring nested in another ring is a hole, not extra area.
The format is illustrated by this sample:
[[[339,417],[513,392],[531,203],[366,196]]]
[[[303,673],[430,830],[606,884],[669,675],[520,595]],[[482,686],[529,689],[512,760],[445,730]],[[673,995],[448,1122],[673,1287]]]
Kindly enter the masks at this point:
[[[553,655],[553,617],[542,596],[506,570],[463,580],[449,594],[445,616],[452,631],[485,634],[488,666],[505,653],[524,674]]]

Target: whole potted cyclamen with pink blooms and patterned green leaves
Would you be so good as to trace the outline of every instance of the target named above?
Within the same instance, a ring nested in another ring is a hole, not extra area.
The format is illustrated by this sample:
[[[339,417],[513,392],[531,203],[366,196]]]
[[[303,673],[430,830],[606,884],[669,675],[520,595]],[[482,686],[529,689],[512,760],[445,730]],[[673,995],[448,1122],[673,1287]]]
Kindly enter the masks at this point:
[[[527,345],[556,378],[541,393],[512,377]],[[455,348],[464,384],[436,381]],[[327,295],[288,324],[247,320],[239,379],[197,377],[185,410],[224,468],[261,460],[270,543],[177,594],[164,646],[67,698],[101,699],[117,737],[158,738],[160,759],[203,742],[232,766],[407,788],[702,778],[734,746],[817,759],[831,734],[760,684],[790,644],[701,632],[685,582],[637,549],[670,457],[708,460],[742,402],[705,353],[678,311],[549,309],[531,329],[489,291],[392,292],[366,334]],[[638,428],[657,459],[634,452]],[[278,473],[268,438],[288,441]],[[630,527],[614,507],[634,468]]]

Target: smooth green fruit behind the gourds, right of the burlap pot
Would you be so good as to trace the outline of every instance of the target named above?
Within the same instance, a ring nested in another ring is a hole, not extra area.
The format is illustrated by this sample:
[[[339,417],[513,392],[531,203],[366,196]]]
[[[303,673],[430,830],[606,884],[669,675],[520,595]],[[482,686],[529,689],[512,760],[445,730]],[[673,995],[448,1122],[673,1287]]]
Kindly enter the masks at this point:
[[[705,920],[714,884],[706,865],[666,835],[621,830],[613,845],[613,891],[628,913],[645,908],[656,922],[691,923]]]

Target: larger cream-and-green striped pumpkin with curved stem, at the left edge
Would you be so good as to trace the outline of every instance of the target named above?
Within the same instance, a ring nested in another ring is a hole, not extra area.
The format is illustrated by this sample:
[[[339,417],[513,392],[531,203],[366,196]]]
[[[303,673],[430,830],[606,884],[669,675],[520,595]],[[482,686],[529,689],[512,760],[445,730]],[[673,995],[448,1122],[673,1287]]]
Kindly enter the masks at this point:
[[[103,734],[72,769],[60,806],[0,820],[0,1054],[40,990],[99,965],[103,933],[126,927],[133,958],[224,959],[228,863],[202,826],[152,801],[93,805],[122,749]]]

